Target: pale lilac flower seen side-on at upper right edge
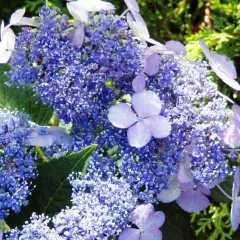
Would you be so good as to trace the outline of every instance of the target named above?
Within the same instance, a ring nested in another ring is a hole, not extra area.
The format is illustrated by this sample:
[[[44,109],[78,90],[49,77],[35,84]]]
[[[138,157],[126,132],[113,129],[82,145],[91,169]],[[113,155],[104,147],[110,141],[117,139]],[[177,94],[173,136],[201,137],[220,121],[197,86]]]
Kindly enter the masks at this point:
[[[199,40],[199,44],[217,76],[231,88],[240,91],[240,84],[235,80],[237,78],[236,68],[230,59],[225,55],[211,53],[202,40]]]

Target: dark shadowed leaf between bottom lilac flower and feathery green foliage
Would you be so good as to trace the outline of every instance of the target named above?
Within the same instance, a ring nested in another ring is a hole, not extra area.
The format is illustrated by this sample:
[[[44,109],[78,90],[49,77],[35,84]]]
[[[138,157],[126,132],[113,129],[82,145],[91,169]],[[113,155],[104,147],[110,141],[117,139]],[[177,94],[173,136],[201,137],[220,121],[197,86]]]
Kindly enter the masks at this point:
[[[183,211],[176,203],[161,203],[156,210],[163,211],[166,220],[161,227],[163,240],[196,240],[190,224],[190,214]]]

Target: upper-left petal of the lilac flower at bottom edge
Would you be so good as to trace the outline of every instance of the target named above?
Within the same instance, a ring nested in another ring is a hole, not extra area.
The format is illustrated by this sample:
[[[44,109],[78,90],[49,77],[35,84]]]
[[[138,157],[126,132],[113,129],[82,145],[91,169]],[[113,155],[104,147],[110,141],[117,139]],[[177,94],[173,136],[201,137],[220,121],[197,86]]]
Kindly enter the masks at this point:
[[[144,229],[145,225],[149,221],[149,217],[154,213],[154,207],[151,203],[142,204],[135,208],[130,218],[131,222],[134,223],[140,229]]]

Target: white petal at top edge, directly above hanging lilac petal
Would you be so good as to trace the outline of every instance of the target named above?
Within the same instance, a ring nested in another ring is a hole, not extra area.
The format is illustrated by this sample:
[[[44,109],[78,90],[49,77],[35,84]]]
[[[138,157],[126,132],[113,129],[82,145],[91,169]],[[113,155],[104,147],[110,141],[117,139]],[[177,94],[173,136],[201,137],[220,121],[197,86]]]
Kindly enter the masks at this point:
[[[75,20],[88,23],[88,12],[79,5],[79,2],[68,2],[67,9]]]

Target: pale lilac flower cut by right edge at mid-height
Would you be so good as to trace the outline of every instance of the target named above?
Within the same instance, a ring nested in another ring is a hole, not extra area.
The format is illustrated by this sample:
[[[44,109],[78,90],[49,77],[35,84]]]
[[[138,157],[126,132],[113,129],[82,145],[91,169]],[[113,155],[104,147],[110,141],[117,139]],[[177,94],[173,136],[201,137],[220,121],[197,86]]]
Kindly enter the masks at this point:
[[[238,105],[233,105],[230,124],[221,136],[224,142],[231,148],[240,146],[240,107]]]

